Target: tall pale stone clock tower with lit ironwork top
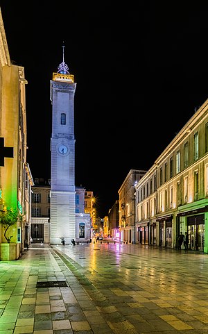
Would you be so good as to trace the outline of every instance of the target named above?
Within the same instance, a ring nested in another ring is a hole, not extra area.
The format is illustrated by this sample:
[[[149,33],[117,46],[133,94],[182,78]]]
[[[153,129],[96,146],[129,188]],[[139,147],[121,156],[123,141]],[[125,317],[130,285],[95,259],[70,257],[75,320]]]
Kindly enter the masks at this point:
[[[73,75],[63,60],[50,82],[52,103],[51,134],[51,244],[76,239],[75,139]]]

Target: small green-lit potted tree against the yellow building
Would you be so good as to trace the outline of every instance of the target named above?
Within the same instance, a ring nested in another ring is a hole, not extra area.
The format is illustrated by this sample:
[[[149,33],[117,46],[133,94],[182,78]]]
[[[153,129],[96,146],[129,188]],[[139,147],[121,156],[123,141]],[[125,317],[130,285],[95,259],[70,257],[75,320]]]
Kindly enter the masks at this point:
[[[14,226],[17,224],[19,220],[19,210],[17,209],[10,209],[10,210],[3,210],[0,211],[0,224],[5,228],[4,230],[4,237],[7,240],[8,244],[12,239],[12,235],[7,236],[6,233],[8,232],[8,228],[10,226]]]

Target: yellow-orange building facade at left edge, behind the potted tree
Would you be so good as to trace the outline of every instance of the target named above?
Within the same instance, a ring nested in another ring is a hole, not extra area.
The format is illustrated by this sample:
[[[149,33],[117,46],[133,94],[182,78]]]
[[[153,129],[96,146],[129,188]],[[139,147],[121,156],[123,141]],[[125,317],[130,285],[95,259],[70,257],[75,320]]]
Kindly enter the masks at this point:
[[[27,129],[24,67],[10,62],[6,33],[0,10],[0,206],[19,211],[19,222],[12,235],[13,258],[21,256],[31,224],[31,186],[33,178],[26,162]],[[6,242],[3,227],[0,242]],[[1,250],[2,251],[2,250]],[[2,254],[0,253],[1,260]]]

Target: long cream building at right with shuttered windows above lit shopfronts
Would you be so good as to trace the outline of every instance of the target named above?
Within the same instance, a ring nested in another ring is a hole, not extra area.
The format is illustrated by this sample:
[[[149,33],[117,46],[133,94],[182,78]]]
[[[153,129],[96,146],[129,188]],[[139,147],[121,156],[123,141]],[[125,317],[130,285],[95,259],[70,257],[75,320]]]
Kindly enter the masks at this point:
[[[208,100],[155,160],[136,187],[137,242],[208,252]]]

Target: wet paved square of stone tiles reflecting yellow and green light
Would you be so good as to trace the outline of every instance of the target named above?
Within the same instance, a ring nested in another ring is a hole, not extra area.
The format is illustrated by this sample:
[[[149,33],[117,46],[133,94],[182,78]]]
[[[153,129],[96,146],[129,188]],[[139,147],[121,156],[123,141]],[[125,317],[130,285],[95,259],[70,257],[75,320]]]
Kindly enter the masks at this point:
[[[208,333],[207,280],[198,252],[33,244],[0,262],[0,334]]]

